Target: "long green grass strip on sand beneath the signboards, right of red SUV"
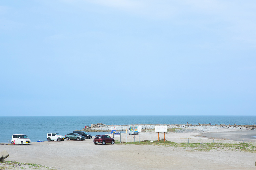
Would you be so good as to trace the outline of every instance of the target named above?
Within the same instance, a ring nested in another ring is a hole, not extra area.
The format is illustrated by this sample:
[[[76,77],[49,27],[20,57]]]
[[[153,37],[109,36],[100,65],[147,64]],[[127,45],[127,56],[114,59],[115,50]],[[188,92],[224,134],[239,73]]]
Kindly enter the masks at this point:
[[[234,150],[256,153],[256,146],[249,143],[175,143],[168,140],[161,139],[150,142],[143,140],[139,142],[116,142],[118,145],[159,145],[165,147],[183,148],[188,151],[211,151],[211,150]]]

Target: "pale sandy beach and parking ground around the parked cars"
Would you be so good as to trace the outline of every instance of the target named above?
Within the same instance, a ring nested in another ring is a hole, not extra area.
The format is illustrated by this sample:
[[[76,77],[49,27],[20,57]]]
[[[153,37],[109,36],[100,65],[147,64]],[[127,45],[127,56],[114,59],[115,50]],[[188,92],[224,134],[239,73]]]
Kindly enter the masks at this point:
[[[103,133],[100,133],[103,134]],[[133,135],[133,141],[157,140],[152,131]],[[177,143],[250,143],[255,145],[255,130],[180,129],[175,133],[159,134],[160,139]],[[115,137],[119,140],[119,137]],[[127,135],[127,141],[131,141]],[[126,142],[126,134],[122,134]],[[234,150],[189,151],[185,148],[159,145],[94,145],[93,139],[84,141],[32,142],[31,145],[0,145],[9,157],[6,161],[41,164],[53,169],[256,169],[256,153]],[[41,168],[43,169],[43,168]]]

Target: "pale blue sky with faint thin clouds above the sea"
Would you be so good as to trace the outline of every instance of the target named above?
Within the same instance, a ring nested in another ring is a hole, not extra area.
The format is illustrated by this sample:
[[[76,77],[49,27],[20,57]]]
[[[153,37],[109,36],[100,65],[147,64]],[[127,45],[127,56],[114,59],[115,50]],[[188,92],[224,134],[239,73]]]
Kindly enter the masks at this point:
[[[0,0],[0,116],[255,115],[255,11]]]

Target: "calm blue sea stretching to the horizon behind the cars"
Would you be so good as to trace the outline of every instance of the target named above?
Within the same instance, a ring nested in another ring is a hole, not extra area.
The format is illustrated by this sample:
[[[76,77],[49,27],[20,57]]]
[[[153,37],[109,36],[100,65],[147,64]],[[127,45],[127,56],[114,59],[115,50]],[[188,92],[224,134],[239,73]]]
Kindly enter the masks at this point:
[[[12,139],[12,134],[26,134],[31,142],[46,140],[48,132],[59,132],[65,136],[91,123],[129,125],[186,124],[187,122],[254,125],[256,116],[0,116],[0,142],[8,142],[8,139]]]

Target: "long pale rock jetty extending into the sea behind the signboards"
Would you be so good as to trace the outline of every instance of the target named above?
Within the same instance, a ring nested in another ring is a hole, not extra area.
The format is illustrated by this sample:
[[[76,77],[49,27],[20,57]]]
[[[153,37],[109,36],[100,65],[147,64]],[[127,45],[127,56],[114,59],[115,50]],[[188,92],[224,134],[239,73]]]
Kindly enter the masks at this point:
[[[243,130],[256,130],[256,125],[225,125],[225,124],[220,124],[220,125],[210,125],[210,124],[201,124],[198,123],[197,125],[192,125],[192,124],[183,124],[183,125],[160,125],[160,124],[133,124],[133,125],[105,125],[102,123],[98,124],[91,124],[91,127],[83,128],[78,131],[87,131],[87,132],[111,132],[111,127],[115,127],[116,131],[125,131],[125,129],[129,129],[130,126],[141,126],[141,130],[152,130],[155,129],[155,126],[167,126],[167,129],[172,129],[172,128],[204,128],[207,126],[210,127],[220,127],[220,128],[227,128],[227,129],[243,129]],[[77,130],[75,130],[77,131]]]

